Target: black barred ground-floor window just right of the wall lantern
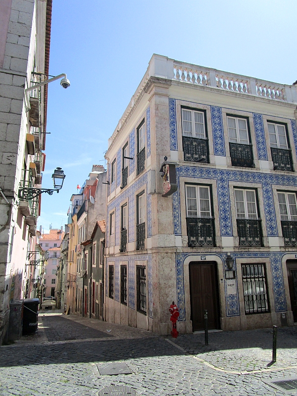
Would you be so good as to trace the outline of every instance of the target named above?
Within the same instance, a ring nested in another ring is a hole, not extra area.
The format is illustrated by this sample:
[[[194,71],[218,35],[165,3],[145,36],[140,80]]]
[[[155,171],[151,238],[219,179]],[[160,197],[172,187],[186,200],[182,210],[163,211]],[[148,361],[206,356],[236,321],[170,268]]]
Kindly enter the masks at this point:
[[[268,312],[265,264],[242,264],[246,314]]]

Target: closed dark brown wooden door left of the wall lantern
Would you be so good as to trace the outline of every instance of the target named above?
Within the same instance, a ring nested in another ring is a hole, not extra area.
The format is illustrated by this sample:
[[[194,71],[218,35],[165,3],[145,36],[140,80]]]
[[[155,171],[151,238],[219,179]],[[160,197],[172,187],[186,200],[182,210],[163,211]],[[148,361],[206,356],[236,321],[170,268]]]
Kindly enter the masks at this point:
[[[204,329],[204,310],[208,313],[208,329],[219,329],[217,264],[210,261],[190,263],[191,319],[193,331]]]

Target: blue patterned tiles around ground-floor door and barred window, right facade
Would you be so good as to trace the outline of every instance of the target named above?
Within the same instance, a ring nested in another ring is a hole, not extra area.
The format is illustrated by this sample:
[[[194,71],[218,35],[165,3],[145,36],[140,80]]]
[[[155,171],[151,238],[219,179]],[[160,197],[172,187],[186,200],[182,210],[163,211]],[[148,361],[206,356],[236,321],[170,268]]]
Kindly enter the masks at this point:
[[[200,253],[201,254],[201,253]],[[232,253],[232,256],[235,259],[241,257],[256,257],[256,258],[264,258],[269,257],[270,266],[271,266],[271,274],[272,274],[272,283],[273,283],[273,294],[274,294],[274,303],[275,303],[275,311],[276,312],[284,312],[287,310],[286,303],[286,295],[285,295],[285,287],[284,287],[284,278],[282,271],[282,257],[286,253],[284,252],[249,252],[249,253]],[[185,306],[185,285],[184,285],[184,261],[187,257],[197,257],[199,255],[198,252],[193,253],[176,253],[176,289],[177,289],[177,301],[178,307],[180,310],[179,321],[186,320],[186,306]],[[203,253],[203,255],[206,255]],[[212,252],[211,256],[216,255],[219,258],[219,262],[224,263],[224,270],[227,270],[226,266],[226,253]],[[197,258],[194,258],[194,261]],[[205,261],[207,262],[207,261]],[[236,268],[236,266],[235,266]],[[236,293],[235,294],[227,294],[227,285],[225,282],[225,301],[226,301],[226,316],[239,316],[240,315],[240,306],[239,306],[239,290],[238,290],[238,282],[236,275]]]

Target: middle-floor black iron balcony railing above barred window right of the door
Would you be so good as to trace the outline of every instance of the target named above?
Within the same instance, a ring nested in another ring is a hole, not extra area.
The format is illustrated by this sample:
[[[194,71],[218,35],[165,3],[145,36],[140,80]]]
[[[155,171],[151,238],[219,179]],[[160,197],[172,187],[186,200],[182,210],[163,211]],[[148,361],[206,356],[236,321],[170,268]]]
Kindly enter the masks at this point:
[[[237,219],[240,246],[263,246],[261,220]]]

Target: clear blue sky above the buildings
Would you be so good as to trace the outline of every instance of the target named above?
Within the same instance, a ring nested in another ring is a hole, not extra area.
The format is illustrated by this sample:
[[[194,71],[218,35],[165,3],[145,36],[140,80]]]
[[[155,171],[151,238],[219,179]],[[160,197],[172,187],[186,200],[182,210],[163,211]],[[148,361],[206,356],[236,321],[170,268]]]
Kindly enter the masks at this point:
[[[294,0],[53,0],[43,187],[61,166],[63,189],[43,194],[39,225],[67,223],[70,197],[103,164],[113,133],[153,53],[292,84],[297,80]]]

